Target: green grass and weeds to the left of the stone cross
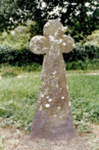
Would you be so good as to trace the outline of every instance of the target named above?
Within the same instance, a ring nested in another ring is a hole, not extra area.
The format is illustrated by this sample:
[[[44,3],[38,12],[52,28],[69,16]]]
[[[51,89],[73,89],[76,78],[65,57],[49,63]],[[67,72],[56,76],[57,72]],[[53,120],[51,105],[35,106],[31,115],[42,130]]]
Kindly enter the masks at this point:
[[[23,78],[2,78],[0,116],[7,118],[3,125],[14,123],[25,129],[31,127],[40,84],[40,73],[37,72]]]

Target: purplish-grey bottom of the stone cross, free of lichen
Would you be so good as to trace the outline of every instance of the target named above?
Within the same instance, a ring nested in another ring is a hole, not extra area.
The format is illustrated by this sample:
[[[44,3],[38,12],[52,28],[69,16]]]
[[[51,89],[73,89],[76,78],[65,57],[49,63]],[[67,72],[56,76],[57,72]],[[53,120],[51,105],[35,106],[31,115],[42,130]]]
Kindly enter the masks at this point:
[[[63,140],[71,139],[76,136],[72,121],[72,115],[69,113],[65,120],[56,124],[50,123],[47,117],[40,111],[36,111],[31,130],[31,140]]]

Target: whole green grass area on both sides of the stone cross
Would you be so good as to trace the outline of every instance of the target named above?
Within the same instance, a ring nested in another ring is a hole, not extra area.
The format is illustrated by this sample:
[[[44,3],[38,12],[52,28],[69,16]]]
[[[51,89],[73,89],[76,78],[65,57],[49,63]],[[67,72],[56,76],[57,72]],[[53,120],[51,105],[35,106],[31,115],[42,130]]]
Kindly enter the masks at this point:
[[[1,66],[0,74],[9,69],[23,77],[8,75],[0,80],[0,125],[30,131],[41,85],[41,72]],[[89,130],[90,122],[99,123],[99,76],[85,73],[81,70],[67,71],[72,114],[78,132]]]

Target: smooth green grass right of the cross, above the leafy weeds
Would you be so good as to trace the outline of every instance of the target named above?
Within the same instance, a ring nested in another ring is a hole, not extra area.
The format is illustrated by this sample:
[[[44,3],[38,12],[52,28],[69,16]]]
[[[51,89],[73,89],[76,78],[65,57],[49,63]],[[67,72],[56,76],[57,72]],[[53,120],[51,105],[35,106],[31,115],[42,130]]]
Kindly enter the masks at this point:
[[[99,99],[99,75],[97,76],[70,76],[68,77],[70,94],[73,97],[81,97],[86,101]]]

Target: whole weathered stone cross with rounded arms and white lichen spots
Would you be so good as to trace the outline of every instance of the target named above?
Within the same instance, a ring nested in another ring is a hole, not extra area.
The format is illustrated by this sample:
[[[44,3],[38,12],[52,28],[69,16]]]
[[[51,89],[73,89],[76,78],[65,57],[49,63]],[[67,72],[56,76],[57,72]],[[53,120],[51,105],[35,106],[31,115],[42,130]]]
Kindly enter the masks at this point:
[[[42,85],[31,130],[32,140],[75,137],[62,56],[73,48],[74,40],[64,35],[64,27],[58,20],[49,20],[44,26],[44,36],[35,36],[30,41],[33,53],[45,54]]]

